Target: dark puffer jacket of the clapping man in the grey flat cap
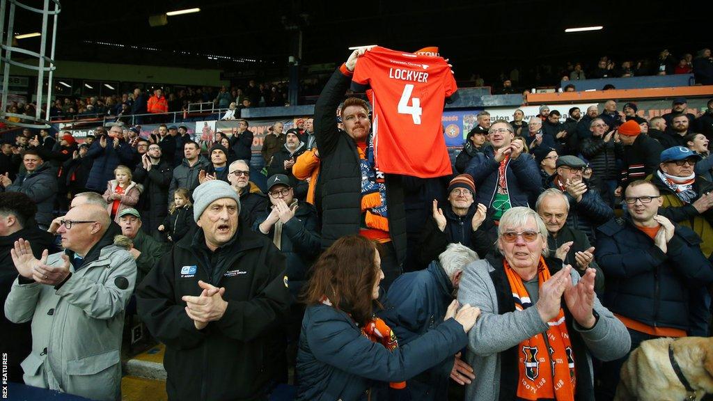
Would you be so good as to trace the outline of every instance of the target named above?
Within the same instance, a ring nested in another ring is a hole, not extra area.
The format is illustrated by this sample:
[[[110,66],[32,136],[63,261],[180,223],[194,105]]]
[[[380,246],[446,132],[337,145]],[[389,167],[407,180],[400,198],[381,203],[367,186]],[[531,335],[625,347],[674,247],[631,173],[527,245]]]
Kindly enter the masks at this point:
[[[558,180],[557,174],[553,174],[553,176],[548,179],[545,188],[560,189],[557,183],[555,183],[555,180]],[[602,200],[599,191],[593,190],[586,180],[584,180],[584,182],[587,184],[588,190],[583,193],[582,200],[579,202],[567,191],[563,191],[570,203],[567,225],[571,228],[583,231],[590,242],[595,243],[595,229],[613,218],[614,210]]]

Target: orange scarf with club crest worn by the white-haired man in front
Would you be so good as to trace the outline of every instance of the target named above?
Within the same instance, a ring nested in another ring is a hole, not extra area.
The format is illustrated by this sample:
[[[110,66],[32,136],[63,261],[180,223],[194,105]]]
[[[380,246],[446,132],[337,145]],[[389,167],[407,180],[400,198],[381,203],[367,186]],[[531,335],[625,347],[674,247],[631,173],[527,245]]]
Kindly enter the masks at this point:
[[[508,283],[513,291],[516,310],[532,306],[522,278],[515,273],[507,260],[503,260]],[[550,270],[540,256],[538,265],[538,285],[550,279]],[[573,401],[577,376],[575,357],[570,335],[565,324],[565,313],[560,308],[557,316],[548,322],[547,341],[543,333],[520,342],[518,345],[518,397],[523,400]]]

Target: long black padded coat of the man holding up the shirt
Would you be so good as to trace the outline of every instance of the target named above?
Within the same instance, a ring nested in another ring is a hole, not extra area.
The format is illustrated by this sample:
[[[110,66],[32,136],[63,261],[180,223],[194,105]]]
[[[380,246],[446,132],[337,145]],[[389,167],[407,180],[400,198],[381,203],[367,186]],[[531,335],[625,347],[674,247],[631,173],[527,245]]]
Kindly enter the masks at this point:
[[[334,71],[314,106],[314,134],[322,158],[322,248],[344,235],[359,233],[361,225],[361,171],[356,143],[337,129],[334,113],[351,76]],[[386,174],[389,234],[399,263],[406,258],[406,213],[401,177]]]

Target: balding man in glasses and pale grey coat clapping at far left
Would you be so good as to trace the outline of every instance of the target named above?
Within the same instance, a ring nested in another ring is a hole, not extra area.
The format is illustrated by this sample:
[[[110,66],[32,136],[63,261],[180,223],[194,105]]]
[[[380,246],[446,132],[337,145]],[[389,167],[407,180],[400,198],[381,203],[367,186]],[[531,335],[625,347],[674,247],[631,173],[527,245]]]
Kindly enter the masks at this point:
[[[5,315],[14,323],[32,321],[24,382],[92,400],[119,400],[121,335],[136,263],[113,245],[116,230],[100,205],[72,208],[57,233],[63,252],[45,250],[38,260],[22,238],[11,250],[19,276]]]

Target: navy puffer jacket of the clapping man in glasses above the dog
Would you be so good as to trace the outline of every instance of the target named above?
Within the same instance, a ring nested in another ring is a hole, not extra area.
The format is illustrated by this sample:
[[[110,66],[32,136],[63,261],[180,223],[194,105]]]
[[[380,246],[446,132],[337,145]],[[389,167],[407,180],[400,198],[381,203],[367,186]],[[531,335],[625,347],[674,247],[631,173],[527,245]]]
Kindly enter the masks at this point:
[[[700,322],[692,308],[703,300],[690,299],[689,290],[713,282],[713,268],[699,248],[698,235],[677,225],[663,253],[635,228],[630,218],[622,225],[610,220],[597,229],[596,258],[604,270],[604,305],[645,325],[690,331]]]

